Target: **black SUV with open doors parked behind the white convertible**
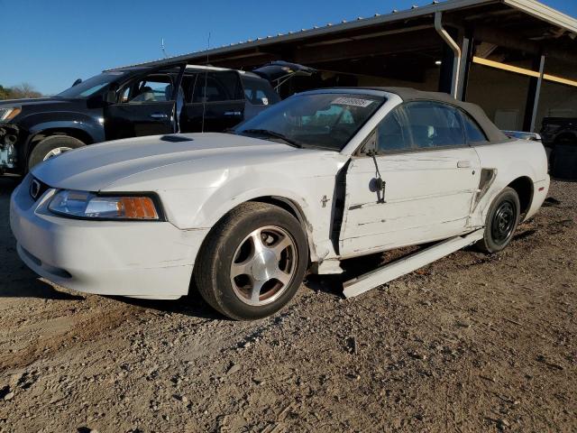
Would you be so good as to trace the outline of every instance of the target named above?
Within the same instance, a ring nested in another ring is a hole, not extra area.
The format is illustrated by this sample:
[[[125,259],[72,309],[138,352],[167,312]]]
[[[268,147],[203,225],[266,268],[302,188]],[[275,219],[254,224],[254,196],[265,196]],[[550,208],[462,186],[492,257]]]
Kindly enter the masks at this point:
[[[274,61],[252,72],[165,63],[105,70],[56,97],[0,101],[0,172],[141,135],[221,132],[279,102],[275,88],[315,72]]]

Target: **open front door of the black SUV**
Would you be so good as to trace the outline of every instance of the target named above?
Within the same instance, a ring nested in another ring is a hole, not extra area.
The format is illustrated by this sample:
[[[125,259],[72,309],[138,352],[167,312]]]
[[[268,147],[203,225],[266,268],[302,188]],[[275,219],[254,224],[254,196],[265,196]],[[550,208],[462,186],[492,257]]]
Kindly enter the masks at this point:
[[[106,140],[178,131],[180,69],[160,69],[133,78],[105,107]]]

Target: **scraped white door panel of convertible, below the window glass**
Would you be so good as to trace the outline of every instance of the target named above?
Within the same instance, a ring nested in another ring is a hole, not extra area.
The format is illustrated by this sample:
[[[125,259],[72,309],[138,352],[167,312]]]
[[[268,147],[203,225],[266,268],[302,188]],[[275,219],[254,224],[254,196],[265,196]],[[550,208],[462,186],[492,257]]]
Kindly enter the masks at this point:
[[[387,182],[385,204],[375,202],[375,193],[366,188],[374,178],[374,161],[364,156],[353,158],[346,178],[350,188],[344,207],[342,254],[431,242],[471,230],[468,218],[481,172],[475,150],[409,155],[376,158],[382,179]],[[468,167],[459,168],[459,161],[468,161]]]

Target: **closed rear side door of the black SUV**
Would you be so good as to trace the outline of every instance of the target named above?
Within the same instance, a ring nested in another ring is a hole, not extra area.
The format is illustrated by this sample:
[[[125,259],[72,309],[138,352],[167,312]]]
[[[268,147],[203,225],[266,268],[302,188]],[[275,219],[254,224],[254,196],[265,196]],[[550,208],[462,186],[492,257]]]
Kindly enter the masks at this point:
[[[243,121],[243,86],[234,70],[205,70],[196,74],[181,115],[184,133],[222,132]]]

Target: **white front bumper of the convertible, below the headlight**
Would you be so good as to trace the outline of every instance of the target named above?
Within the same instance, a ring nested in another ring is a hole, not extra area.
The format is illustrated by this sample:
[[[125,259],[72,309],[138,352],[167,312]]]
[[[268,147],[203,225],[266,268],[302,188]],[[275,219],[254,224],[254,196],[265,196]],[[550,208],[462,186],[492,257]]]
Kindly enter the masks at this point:
[[[88,221],[48,210],[55,189],[34,201],[31,177],[14,189],[10,226],[32,271],[63,287],[101,295],[178,299],[188,293],[208,229],[168,222]]]

